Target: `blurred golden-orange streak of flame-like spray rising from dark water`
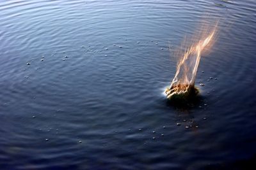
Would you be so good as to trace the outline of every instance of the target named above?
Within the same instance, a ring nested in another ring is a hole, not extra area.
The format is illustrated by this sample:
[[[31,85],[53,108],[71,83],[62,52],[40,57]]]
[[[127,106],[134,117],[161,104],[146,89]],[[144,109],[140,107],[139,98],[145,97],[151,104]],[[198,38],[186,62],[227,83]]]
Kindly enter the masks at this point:
[[[178,54],[179,61],[177,62],[177,71],[168,89],[165,90],[167,98],[171,98],[175,94],[186,94],[189,89],[195,88],[195,77],[200,62],[201,54],[206,48],[210,48],[216,36],[218,23],[214,25],[213,29],[209,29],[205,25],[201,31],[191,39],[196,43],[186,48],[183,53]],[[187,41],[184,42],[188,43]]]

